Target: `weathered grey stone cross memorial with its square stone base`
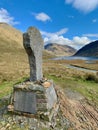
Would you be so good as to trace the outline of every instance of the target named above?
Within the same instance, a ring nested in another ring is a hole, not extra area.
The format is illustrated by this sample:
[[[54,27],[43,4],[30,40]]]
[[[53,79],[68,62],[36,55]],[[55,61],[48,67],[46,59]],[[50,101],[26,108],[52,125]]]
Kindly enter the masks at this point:
[[[29,59],[30,80],[14,85],[9,108],[11,110],[13,108],[14,112],[21,114],[37,115],[43,113],[47,115],[48,112],[51,115],[52,109],[57,104],[57,95],[53,81],[43,79],[43,39],[38,29],[30,27],[23,34],[23,45]]]

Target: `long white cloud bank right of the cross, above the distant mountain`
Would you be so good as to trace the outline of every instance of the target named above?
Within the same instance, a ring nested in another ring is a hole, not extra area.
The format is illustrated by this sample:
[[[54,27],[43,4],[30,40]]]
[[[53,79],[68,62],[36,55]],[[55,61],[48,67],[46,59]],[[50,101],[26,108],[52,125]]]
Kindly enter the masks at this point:
[[[41,31],[41,34],[44,37],[45,44],[58,43],[61,45],[69,45],[76,49],[79,49],[82,46],[91,42],[91,40],[86,36],[83,36],[83,37],[75,36],[73,37],[73,39],[65,38],[63,34],[65,34],[67,30],[68,30],[67,28],[64,28],[55,33],[48,33],[45,31]]]

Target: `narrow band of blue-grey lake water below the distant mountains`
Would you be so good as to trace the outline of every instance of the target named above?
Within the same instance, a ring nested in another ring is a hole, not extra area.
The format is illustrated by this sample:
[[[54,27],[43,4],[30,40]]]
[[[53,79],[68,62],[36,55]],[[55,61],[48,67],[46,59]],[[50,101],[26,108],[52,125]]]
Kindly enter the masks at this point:
[[[53,60],[85,60],[85,61],[96,61],[98,57],[83,57],[83,56],[61,56],[53,58]]]

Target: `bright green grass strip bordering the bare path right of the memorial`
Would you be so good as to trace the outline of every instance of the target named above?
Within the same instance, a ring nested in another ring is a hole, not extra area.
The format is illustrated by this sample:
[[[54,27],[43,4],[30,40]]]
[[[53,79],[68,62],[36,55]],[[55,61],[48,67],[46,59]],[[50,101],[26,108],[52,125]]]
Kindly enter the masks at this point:
[[[64,79],[51,75],[48,77],[53,79],[54,82],[63,89],[69,88],[73,91],[79,92],[88,101],[92,102],[98,107],[98,83],[72,77],[65,77]]]

